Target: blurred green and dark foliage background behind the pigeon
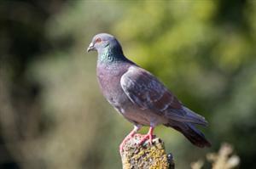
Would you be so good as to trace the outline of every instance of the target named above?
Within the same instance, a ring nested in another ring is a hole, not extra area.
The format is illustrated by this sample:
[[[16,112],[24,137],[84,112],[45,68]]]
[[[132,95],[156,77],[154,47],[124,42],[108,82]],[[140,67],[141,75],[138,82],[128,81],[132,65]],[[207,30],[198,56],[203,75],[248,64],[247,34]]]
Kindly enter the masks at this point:
[[[177,168],[223,142],[241,168],[256,168],[253,0],[2,0],[0,168],[121,168],[119,143],[132,125],[103,99],[96,53],[85,53],[99,32],[207,117],[211,149],[156,129]]]

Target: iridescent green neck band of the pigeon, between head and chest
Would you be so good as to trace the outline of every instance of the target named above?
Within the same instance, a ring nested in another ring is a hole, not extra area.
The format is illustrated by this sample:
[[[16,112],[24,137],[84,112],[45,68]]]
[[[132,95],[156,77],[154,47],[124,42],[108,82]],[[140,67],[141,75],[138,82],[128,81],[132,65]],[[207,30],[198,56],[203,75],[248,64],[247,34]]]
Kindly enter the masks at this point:
[[[127,60],[122,48],[111,48],[110,46],[98,51],[98,62],[116,62]]]

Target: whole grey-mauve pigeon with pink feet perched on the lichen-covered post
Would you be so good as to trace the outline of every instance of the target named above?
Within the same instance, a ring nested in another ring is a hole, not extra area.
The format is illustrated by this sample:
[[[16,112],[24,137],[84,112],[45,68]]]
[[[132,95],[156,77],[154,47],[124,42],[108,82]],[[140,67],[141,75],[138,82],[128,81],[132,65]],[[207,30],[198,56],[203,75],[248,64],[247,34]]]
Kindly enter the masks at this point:
[[[172,127],[197,147],[210,147],[204,134],[195,125],[207,126],[207,121],[185,107],[165,85],[148,70],[127,59],[119,41],[108,33],[99,33],[92,38],[87,52],[98,54],[96,76],[102,94],[109,104],[130,121],[134,128],[119,145],[122,152],[127,140],[143,126],[148,133],[138,144],[152,144],[154,127]]]

